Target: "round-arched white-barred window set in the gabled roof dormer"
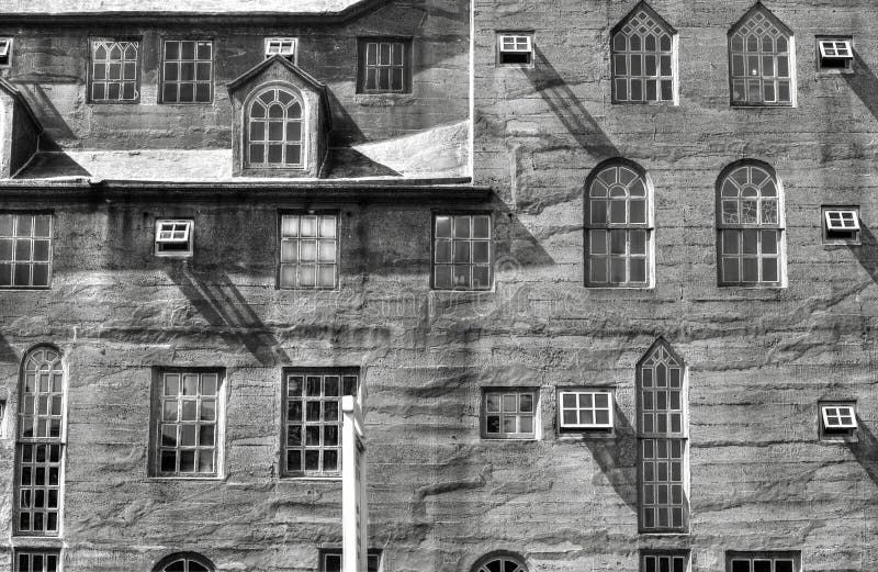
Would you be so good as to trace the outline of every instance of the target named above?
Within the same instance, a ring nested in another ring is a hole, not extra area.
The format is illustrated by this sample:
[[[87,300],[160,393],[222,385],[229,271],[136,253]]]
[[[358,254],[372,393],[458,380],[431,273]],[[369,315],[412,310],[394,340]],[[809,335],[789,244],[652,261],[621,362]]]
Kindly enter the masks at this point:
[[[273,87],[252,99],[247,112],[249,167],[296,168],[304,165],[302,101]]]

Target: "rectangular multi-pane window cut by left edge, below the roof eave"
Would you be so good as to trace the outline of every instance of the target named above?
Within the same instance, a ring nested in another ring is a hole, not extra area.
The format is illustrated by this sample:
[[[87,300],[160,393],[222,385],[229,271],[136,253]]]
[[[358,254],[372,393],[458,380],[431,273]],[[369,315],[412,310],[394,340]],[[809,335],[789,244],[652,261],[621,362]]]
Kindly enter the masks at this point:
[[[47,288],[52,215],[0,213],[0,288]]]

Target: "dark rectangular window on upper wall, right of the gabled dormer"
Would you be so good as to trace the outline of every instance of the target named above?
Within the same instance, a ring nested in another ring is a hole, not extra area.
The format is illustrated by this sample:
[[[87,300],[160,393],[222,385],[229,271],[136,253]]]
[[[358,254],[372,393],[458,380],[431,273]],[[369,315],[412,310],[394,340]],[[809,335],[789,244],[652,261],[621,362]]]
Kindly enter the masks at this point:
[[[409,93],[412,91],[412,41],[359,40],[359,93]]]

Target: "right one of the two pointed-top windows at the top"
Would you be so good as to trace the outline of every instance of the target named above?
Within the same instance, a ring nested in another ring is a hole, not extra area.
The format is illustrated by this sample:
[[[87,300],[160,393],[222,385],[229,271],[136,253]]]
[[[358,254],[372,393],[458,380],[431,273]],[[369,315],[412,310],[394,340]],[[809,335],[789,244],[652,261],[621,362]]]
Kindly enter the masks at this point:
[[[757,4],[729,33],[733,105],[792,105],[796,96],[792,32]]]

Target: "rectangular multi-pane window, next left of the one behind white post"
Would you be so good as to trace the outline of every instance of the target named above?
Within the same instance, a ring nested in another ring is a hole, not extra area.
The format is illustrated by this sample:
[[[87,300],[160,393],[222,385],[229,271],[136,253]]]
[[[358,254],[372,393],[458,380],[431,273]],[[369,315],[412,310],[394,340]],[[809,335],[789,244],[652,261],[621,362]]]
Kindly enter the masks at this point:
[[[161,371],[156,383],[154,451],[156,476],[219,473],[222,374]]]

